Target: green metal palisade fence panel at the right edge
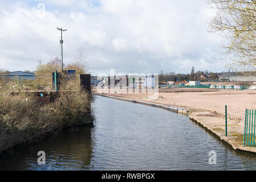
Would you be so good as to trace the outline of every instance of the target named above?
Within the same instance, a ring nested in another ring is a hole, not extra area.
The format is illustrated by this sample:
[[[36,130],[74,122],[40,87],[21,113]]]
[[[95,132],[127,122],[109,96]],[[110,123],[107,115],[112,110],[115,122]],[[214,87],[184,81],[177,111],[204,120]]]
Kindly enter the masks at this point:
[[[255,118],[256,110],[245,110],[245,130],[243,133],[243,146],[255,147]]]

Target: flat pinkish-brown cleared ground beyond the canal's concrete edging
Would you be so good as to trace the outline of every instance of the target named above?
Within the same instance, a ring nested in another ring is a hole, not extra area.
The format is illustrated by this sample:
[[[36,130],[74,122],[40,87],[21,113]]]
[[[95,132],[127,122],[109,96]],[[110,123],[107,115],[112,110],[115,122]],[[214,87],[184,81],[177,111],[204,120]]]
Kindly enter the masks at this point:
[[[95,90],[96,92],[96,90]],[[160,89],[159,98],[154,100],[152,93],[108,93],[109,96],[147,101],[162,105],[173,105],[192,109],[193,111],[210,111],[227,115],[229,119],[243,123],[245,109],[256,109],[256,90],[215,90],[215,89]],[[147,98],[149,96],[149,98]],[[156,98],[156,97],[155,97]]]

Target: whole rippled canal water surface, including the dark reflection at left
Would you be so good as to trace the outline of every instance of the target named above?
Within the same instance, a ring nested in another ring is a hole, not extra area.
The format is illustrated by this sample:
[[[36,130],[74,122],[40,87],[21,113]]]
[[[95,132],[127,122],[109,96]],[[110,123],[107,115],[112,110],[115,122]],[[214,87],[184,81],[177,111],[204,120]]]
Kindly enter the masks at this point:
[[[7,170],[254,170],[256,155],[234,151],[189,117],[96,96],[95,127],[67,129],[0,156]],[[46,164],[37,163],[38,151]],[[210,165],[210,151],[216,164]]]

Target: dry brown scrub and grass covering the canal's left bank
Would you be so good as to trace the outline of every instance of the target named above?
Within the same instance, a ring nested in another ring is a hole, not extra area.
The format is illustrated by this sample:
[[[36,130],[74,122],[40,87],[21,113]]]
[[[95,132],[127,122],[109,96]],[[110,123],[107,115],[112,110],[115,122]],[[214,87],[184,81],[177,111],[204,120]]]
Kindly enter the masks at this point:
[[[63,127],[92,124],[91,96],[80,88],[76,77],[61,81],[58,97],[45,105],[32,93],[14,96],[11,89],[0,90],[0,152]]]

